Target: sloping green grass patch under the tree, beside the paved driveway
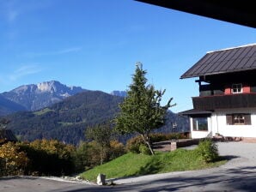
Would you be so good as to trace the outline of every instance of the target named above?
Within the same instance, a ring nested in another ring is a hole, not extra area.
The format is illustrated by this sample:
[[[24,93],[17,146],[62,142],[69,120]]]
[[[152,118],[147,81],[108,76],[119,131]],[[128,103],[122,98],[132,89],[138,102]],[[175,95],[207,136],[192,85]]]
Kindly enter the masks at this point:
[[[171,171],[199,170],[223,165],[224,163],[226,163],[226,160],[220,159],[214,163],[206,164],[198,159],[194,150],[180,148],[174,152],[157,152],[154,156],[127,153],[104,165],[85,171],[80,176],[89,181],[95,181],[99,173],[105,174],[109,179]]]

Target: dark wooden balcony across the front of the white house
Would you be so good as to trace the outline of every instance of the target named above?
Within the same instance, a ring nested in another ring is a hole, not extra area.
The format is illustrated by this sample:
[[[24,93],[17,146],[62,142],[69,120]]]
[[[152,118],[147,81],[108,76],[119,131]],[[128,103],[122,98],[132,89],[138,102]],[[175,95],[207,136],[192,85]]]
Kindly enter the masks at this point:
[[[195,110],[256,107],[256,93],[193,97],[192,102]]]

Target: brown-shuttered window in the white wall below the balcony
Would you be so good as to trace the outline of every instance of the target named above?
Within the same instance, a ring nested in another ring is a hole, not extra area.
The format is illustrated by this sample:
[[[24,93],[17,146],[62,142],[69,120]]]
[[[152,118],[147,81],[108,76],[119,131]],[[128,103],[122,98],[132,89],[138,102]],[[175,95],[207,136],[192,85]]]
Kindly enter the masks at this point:
[[[228,125],[250,125],[251,115],[245,113],[227,114],[226,120]]]

